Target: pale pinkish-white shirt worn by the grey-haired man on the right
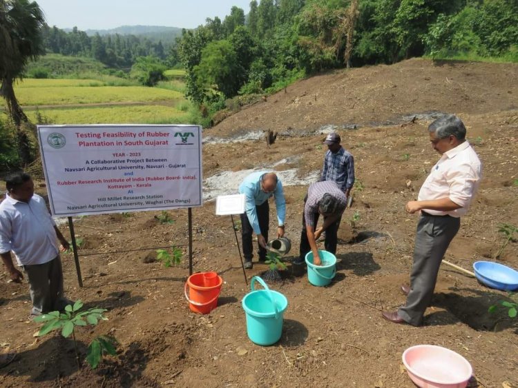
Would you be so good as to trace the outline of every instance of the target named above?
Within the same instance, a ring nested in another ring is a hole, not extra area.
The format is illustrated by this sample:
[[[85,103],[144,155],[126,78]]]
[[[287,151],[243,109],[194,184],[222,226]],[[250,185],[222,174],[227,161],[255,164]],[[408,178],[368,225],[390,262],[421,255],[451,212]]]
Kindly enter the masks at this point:
[[[450,198],[461,207],[450,212],[428,210],[432,215],[460,217],[468,212],[480,185],[482,163],[470,143],[464,141],[441,156],[419,190],[418,201]]]

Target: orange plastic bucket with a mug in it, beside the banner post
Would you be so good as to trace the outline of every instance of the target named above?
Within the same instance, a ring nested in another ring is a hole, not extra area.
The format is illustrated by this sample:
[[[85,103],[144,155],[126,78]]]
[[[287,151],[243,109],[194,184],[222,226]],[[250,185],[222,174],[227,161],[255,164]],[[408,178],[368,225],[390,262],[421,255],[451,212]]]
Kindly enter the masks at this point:
[[[211,285],[210,285],[211,284]],[[189,308],[198,314],[209,314],[218,306],[223,278],[215,272],[198,272],[187,278],[184,287]],[[189,294],[187,293],[189,289]]]

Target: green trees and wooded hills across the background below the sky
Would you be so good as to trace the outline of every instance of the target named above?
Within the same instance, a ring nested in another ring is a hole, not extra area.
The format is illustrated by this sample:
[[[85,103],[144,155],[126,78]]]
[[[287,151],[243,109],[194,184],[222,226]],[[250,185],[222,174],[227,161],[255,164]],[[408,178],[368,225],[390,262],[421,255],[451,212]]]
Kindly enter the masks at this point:
[[[26,24],[14,21],[17,6]],[[37,1],[0,0],[0,32],[19,25],[21,51],[0,47],[0,94],[18,126],[26,117],[11,89],[23,77],[97,72],[154,86],[183,69],[184,94],[208,126],[220,110],[327,70],[423,56],[518,61],[518,0],[252,0],[247,14],[233,6],[180,36],[66,32],[45,23]]]

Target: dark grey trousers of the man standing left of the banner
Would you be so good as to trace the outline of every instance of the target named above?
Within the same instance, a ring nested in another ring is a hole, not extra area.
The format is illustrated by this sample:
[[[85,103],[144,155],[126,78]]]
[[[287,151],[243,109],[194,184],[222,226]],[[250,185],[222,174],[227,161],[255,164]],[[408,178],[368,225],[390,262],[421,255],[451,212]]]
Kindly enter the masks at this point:
[[[48,263],[23,265],[29,280],[32,315],[63,310],[70,303],[63,293],[63,269],[59,256]]]

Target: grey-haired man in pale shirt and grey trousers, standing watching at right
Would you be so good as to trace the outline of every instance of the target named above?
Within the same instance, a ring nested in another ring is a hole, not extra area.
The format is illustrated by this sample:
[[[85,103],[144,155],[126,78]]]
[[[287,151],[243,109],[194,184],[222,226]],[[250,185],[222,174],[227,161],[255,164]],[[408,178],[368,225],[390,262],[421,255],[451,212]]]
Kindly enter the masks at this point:
[[[382,313],[390,322],[413,326],[423,323],[443,256],[459,231],[461,216],[468,212],[482,176],[482,164],[466,141],[466,127],[457,116],[435,120],[428,132],[433,149],[442,156],[421,186],[417,201],[405,205],[407,213],[420,214],[410,287],[401,286],[407,301],[395,312]]]

